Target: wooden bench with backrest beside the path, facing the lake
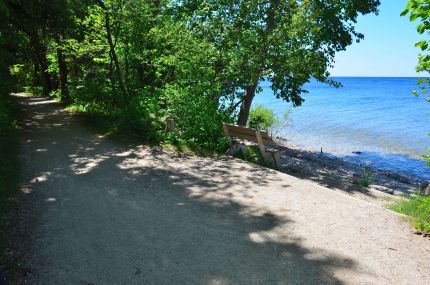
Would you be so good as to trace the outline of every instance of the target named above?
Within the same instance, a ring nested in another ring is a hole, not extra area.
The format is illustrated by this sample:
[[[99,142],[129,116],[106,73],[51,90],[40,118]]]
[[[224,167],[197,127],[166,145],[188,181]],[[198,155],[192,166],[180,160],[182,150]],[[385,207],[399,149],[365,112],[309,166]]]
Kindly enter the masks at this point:
[[[227,123],[223,123],[223,129],[228,143],[230,144],[230,149],[232,149],[232,147],[235,145],[234,138],[257,143],[264,159],[267,161],[273,161],[276,168],[279,169],[279,151],[266,147],[266,145],[273,144],[273,141],[267,131],[260,131]]]

